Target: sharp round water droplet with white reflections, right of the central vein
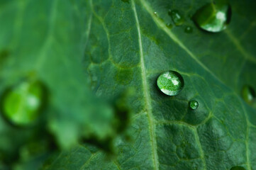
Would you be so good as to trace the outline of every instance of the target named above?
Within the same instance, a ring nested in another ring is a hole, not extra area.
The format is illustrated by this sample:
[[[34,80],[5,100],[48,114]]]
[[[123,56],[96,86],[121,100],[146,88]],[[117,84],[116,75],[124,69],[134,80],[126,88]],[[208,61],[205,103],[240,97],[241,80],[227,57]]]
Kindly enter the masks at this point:
[[[162,93],[176,96],[184,87],[184,79],[178,72],[164,72],[157,78],[157,86]]]

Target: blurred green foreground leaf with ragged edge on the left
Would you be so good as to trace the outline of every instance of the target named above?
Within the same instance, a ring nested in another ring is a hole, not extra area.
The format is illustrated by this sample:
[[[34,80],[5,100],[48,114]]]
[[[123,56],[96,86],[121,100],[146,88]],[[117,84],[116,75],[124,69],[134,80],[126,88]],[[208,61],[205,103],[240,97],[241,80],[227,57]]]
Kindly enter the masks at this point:
[[[86,4],[82,0],[0,1],[1,101],[7,89],[31,77],[46,86],[49,96],[32,127],[11,125],[1,114],[0,162],[4,166],[37,169],[45,155],[57,149],[69,149],[82,140],[112,140],[118,133],[119,117],[109,104],[114,98],[110,102],[96,98],[84,75],[89,16]],[[4,107],[9,114],[13,114],[13,104],[18,113],[30,116],[26,107],[15,102],[26,100],[21,99],[23,96],[18,100],[7,98],[8,106]],[[19,116],[21,120],[17,118],[16,122],[24,121]],[[44,149],[37,149],[42,141]],[[30,142],[38,145],[28,147],[24,156],[22,148]]]

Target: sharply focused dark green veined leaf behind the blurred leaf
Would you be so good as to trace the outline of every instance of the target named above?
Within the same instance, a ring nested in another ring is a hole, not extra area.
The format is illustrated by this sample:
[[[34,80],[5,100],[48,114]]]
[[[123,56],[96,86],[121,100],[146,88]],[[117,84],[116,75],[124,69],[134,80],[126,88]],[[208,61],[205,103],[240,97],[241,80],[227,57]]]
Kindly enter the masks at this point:
[[[255,3],[230,1],[226,30],[207,33],[190,16],[211,1],[128,2],[88,1],[85,65],[98,96],[111,98],[130,86],[137,91],[130,98],[132,142],[120,137],[116,157],[91,152],[77,169],[256,169],[256,111],[240,97],[244,84],[256,88]],[[169,9],[184,16],[182,26],[167,27]],[[187,26],[193,33],[184,33]],[[169,70],[185,82],[173,97],[156,85]],[[191,99],[199,102],[195,111]],[[59,157],[50,169],[69,169],[76,157]]]

